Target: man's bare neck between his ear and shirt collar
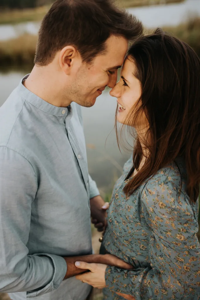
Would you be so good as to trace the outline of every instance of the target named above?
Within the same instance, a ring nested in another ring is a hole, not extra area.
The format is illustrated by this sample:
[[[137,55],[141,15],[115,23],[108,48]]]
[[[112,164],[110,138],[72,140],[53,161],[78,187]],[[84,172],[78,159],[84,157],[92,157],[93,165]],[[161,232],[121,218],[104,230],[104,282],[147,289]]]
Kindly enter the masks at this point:
[[[50,65],[47,67],[35,65],[23,85],[44,101],[57,107],[67,107],[71,101],[63,95],[64,93],[62,94],[61,79],[59,79],[59,72],[57,73],[51,70]]]

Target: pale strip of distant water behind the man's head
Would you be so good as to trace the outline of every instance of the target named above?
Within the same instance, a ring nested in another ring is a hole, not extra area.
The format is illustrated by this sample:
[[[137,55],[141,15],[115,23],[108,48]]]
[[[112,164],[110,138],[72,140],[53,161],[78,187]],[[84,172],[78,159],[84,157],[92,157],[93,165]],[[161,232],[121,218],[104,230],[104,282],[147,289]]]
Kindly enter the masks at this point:
[[[186,0],[181,3],[128,8],[145,27],[178,25],[190,16],[200,16],[200,0]],[[25,22],[16,25],[0,25],[0,40],[15,38],[23,33],[37,34],[40,22]]]

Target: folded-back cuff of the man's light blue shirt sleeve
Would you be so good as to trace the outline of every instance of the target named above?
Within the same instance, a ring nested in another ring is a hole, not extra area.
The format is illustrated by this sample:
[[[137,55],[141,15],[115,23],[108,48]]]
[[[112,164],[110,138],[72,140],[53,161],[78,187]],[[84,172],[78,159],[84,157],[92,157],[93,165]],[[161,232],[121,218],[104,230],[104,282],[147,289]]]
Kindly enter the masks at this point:
[[[46,254],[46,253],[40,253],[40,254],[35,254],[35,255],[48,256],[52,260],[54,271],[52,274],[53,276],[51,276],[51,281],[46,286],[42,287],[41,289],[27,292],[27,294],[26,294],[27,298],[37,297],[37,296],[54,291],[61,284],[61,282],[63,281],[63,279],[67,273],[67,263],[63,257],[54,255],[54,254]]]

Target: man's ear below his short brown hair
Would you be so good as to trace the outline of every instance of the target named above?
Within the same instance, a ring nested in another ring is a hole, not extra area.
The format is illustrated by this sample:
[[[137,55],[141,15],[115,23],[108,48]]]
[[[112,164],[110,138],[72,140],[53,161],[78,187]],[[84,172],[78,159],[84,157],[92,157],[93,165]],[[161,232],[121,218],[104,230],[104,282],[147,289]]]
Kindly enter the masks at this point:
[[[59,55],[59,64],[66,75],[70,75],[73,67],[76,67],[80,60],[79,52],[73,46],[64,47]]]

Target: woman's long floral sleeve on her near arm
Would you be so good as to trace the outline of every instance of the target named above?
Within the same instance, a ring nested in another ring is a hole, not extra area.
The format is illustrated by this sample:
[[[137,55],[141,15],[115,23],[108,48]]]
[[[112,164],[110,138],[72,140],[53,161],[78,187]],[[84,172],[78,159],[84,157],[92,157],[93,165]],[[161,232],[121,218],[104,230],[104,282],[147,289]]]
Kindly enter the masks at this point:
[[[151,266],[127,271],[106,269],[106,285],[136,300],[197,299],[200,292],[198,222],[187,194],[170,182],[147,184],[141,195],[145,220],[152,230]]]

